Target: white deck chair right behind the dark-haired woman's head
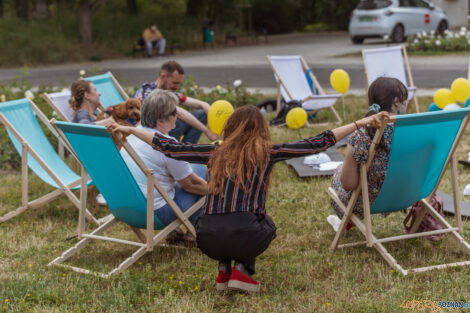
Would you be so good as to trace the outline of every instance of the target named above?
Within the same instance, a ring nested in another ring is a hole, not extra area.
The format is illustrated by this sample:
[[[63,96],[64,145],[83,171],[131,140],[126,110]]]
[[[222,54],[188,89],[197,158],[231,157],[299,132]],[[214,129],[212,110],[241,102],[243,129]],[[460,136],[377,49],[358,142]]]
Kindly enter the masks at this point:
[[[411,75],[408,55],[404,45],[376,49],[362,49],[364,74],[366,76],[366,94],[370,84],[378,77],[394,77],[408,88],[408,100],[413,100],[416,112],[419,112],[416,86]]]

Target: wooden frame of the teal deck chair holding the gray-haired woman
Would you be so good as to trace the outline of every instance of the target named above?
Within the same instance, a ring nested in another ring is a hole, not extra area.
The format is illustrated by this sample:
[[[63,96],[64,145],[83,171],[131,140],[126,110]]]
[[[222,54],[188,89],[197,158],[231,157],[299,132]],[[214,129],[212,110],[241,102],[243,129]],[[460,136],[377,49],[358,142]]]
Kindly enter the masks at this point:
[[[61,134],[61,136],[65,137],[63,133]],[[139,228],[132,227],[129,225],[129,227],[138,237],[140,242],[103,236],[102,234],[106,230],[108,230],[113,225],[119,222],[119,220],[117,220],[114,216],[110,218],[107,222],[105,222],[103,225],[99,226],[97,229],[92,231],[91,233],[85,233],[85,228],[86,228],[85,210],[86,208],[84,204],[86,203],[87,190],[86,188],[81,188],[80,189],[81,207],[80,207],[80,214],[79,214],[79,220],[78,220],[78,239],[80,239],[80,241],[75,246],[65,251],[60,257],[57,257],[56,259],[51,261],[48,264],[48,266],[56,265],[56,266],[61,266],[64,268],[71,269],[78,273],[91,274],[91,275],[98,276],[98,277],[109,278],[110,276],[120,273],[124,271],[125,269],[127,269],[129,266],[134,264],[138,259],[140,259],[143,255],[145,255],[145,253],[153,251],[153,248],[157,244],[159,244],[163,239],[166,238],[166,236],[168,236],[168,234],[170,234],[173,230],[175,230],[177,227],[181,225],[184,225],[188,229],[188,231],[194,237],[196,237],[196,230],[194,229],[194,226],[189,221],[189,217],[202,207],[205,201],[205,197],[202,197],[201,199],[199,199],[188,210],[186,210],[186,212],[182,212],[181,209],[178,207],[178,205],[175,203],[175,201],[170,197],[170,195],[166,192],[166,190],[161,186],[159,181],[155,178],[154,171],[150,170],[145,165],[145,163],[142,161],[139,155],[127,142],[121,141],[121,144],[147,177],[147,195],[146,195],[147,196],[147,227],[145,229],[145,234],[143,234]],[[82,186],[86,183],[87,177],[88,175],[86,174],[86,171],[82,165],[82,179],[81,179]],[[170,208],[173,210],[173,212],[176,215],[176,220],[170,223],[169,225],[167,225],[164,229],[160,230],[156,235],[155,235],[155,231],[153,227],[154,226],[154,206],[153,206],[154,189],[156,189],[160,193],[162,198],[168,203],[168,205],[170,206]],[[79,252],[83,248],[85,248],[93,239],[131,245],[131,246],[138,247],[138,249],[130,257],[125,259],[116,268],[112,269],[108,273],[100,273],[100,272],[96,272],[96,271],[92,271],[92,270],[88,270],[88,269],[84,269],[84,268],[80,268],[76,266],[63,264],[63,262],[71,258],[73,255],[75,255],[77,252]]]

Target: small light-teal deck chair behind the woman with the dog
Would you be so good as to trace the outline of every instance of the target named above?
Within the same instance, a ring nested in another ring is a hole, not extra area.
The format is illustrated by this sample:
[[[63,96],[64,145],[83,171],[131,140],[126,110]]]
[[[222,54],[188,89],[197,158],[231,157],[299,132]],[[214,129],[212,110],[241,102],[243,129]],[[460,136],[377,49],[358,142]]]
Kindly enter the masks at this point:
[[[102,110],[129,99],[129,96],[111,72],[86,77],[85,79],[92,82],[101,94],[100,101],[104,107],[100,108]]]

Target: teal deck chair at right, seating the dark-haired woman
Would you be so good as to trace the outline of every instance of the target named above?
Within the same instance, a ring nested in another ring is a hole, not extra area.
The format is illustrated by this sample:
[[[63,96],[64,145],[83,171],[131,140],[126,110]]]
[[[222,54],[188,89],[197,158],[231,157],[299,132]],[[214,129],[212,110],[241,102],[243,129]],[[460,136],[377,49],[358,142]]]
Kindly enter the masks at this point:
[[[373,144],[369,150],[367,162],[360,168],[360,183],[353,191],[348,203],[343,203],[336,192],[330,187],[328,193],[345,212],[340,228],[330,246],[331,249],[344,248],[366,244],[374,247],[393,267],[403,275],[413,272],[423,272],[431,269],[442,269],[450,266],[470,265],[470,261],[433,265],[414,269],[403,269],[382,245],[386,242],[450,233],[463,250],[470,254],[470,245],[462,238],[462,218],[457,186],[457,162],[455,149],[468,122],[468,109],[455,111],[426,112],[419,114],[399,115],[393,118],[391,152],[387,173],[382,188],[373,203],[369,203],[367,187],[367,170],[372,162],[376,145],[380,142],[386,123],[376,132]],[[457,227],[452,227],[429,204],[448,164],[451,164],[452,189]],[[364,221],[352,213],[354,204],[362,194],[364,204]],[[406,209],[420,201],[424,208],[413,224],[411,233],[406,235],[376,238],[372,233],[371,214],[388,213]],[[443,226],[441,230],[416,233],[425,213],[429,213]],[[355,243],[338,245],[343,237],[348,222],[354,223],[366,240]]]

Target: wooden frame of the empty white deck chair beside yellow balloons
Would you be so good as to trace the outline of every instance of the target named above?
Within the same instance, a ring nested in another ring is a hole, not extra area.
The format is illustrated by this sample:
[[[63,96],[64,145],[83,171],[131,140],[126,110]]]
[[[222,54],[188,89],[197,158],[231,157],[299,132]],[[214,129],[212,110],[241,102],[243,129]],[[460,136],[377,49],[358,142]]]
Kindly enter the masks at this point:
[[[270,55],[267,55],[266,58],[268,59],[268,63],[269,63],[269,66],[271,66],[271,69],[274,73],[274,75],[277,77],[277,85],[276,85],[276,88],[277,88],[277,100],[276,100],[276,111],[279,113],[279,111],[281,110],[281,100],[282,100],[282,94],[281,94],[281,86],[284,88],[284,90],[286,91],[286,93],[289,95],[289,97],[291,99],[293,99],[294,97],[292,97],[290,91],[287,89],[286,87],[286,84],[284,83],[284,80],[281,78],[281,75],[279,75],[278,71],[276,70],[274,64],[272,63],[271,61],[271,56]],[[305,72],[308,71],[309,67],[308,67],[308,64],[307,62],[305,61],[305,59],[303,58],[303,56],[299,55],[299,58],[300,58],[300,62],[302,64],[302,68]],[[327,94],[325,93],[325,90],[323,89],[323,87],[320,85],[320,83],[318,82],[318,79],[317,77],[313,74],[312,71],[309,71],[308,72],[310,78],[312,79],[312,82],[314,84],[314,86],[318,89],[318,94],[320,96],[327,96]],[[305,99],[301,99],[301,101],[306,101],[306,100],[310,100],[310,99],[314,99],[314,97],[307,97]],[[338,112],[335,110],[335,108],[333,106],[330,106],[328,108],[325,108],[325,109],[329,109],[331,112],[333,112],[333,115],[335,116],[335,118],[338,120],[337,123],[341,124],[343,123],[343,120],[341,119],[341,117],[339,116]],[[319,109],[319,110],[313,110],[311,112],[309,112],[309,114],[315,114],[316,112],[320,111],[320,110],[323,110],[323,109]],[[321,124],[315,124],[317,126],[320,126],[320,125],[327,125],[328,123],[321,123]],[[308,122],[307,122],[307,125],[308,126],[311,126]]]

